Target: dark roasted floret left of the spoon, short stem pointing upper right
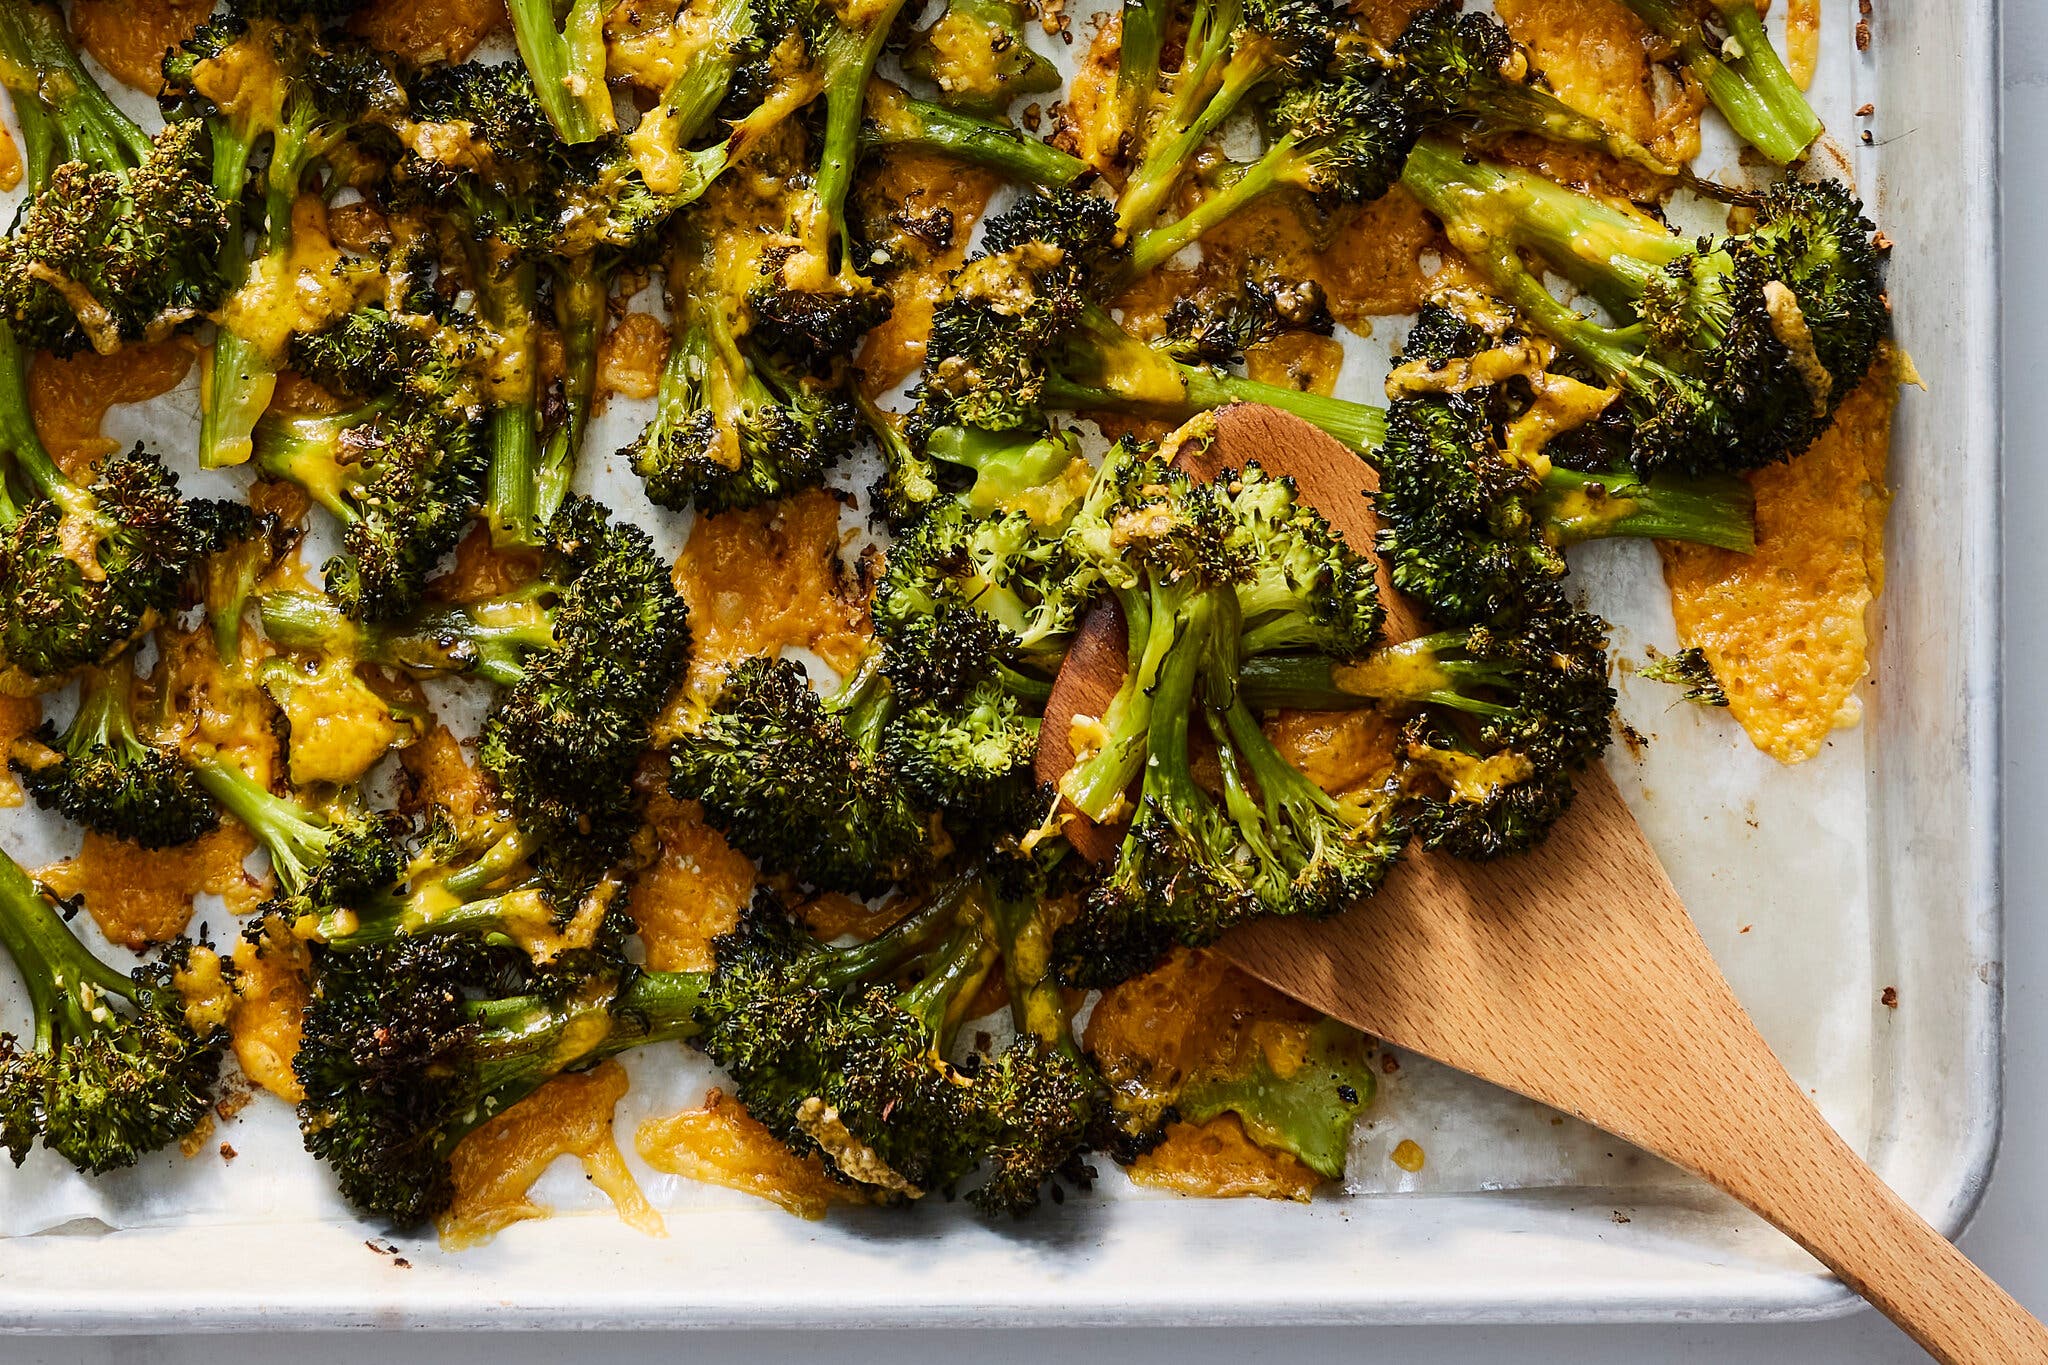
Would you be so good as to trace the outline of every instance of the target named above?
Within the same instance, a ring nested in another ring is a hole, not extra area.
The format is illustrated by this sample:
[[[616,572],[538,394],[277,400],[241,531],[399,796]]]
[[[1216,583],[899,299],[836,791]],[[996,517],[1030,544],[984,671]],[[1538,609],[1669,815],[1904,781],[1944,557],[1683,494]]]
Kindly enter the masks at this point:
[[[879,657],[831,698],[791,659],[743,659],[670,747],[668,788],[770,872],[874,894],[930,860],[928,821],[883,759],[895,712]]]

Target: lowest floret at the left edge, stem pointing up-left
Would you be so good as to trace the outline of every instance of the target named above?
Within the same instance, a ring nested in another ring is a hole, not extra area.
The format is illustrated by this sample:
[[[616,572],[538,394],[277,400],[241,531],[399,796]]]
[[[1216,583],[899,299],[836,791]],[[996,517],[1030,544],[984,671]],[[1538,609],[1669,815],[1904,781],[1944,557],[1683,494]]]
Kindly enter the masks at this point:
[[[0,945],[35,1025],[0,1036],[0,1146],[41,1142],[86,1175],[133,1166],[213,1109],[227,1029],[174,986],[188,945],[123,976],[78,941],[20,866],[0,853]]]

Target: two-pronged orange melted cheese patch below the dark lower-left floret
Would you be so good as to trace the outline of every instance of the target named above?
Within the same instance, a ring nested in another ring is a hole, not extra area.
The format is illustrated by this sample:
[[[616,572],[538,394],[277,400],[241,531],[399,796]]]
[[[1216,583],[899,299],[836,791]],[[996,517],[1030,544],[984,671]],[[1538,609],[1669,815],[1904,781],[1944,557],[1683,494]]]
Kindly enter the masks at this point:
[[[455,1144],[449,1156],[455,1197],[434,1220],[440,1244],[481,1246],[516,1222],[547,1218],[549,1209],[526,1195],[561,1156],[582,1162],[629,1228],[664,1236],[662,1216],[612,1138],[612,1111],[625,1093],[627,1072],[618,1062],[555,1076]]]

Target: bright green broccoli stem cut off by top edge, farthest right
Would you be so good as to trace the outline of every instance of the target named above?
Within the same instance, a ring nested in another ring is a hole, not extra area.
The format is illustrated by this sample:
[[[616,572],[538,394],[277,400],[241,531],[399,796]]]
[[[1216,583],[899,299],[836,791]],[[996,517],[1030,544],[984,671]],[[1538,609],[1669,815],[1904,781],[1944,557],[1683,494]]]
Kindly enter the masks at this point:
[[[1751,0],[1708,0],[1729,39],[1714,43],[1683,0],[1624,0],[1642,23],[1677,45],[1729,127],[1778,166],[1790,166],[1821,135],[1821,117],[1792,80]]]

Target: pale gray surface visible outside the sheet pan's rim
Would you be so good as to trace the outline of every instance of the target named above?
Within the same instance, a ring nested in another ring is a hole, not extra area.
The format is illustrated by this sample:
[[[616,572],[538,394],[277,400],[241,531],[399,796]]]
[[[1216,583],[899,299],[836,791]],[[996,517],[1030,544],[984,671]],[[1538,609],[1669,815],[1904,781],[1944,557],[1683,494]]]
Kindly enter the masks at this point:
[[[2048,465],[2038,458],[2048,432],[2048,258],[2038,225],[2048,219],[2048,176],[2042,174],[2040,129],[2048,127],[2048,4],[2011,0],[2005,12],[2005,794],[2007,794],[2007,1111],[1999,1166],[1964,1250],[2005,1283],[2028,1308],[2048,1316],[2048,708],[2034,679],[2048,673]],[[1987,244],[1993,225],[1985,225]],[[223,1275],[260,1275],[262,1267],[221,1267]],[[565,1267],[573,1275],[573,1267]],[[963,1359],[977,1365],[1114,1359],[1120,1365],[1204,1365],[1208,1361],[1403,1361],[1405,1365],[1513,1359],[1522,1365],[1606,1361],[1798,1361],[1800,1365],[1882,1365],[1917,1361],[1911,1342],[1874,1314],[1798,1326],[1632,1326],[1632,1328],[1360,1328],[1260,1332],[971,1332],[932,1334],[547,1334],[412,1336],[362,1340],[348,1336],[279,1338],[115,1338],[0,1340],[6,1365],[358,1365],[436,1361],[442,1365],[541,1365],[582,1361],[678,1359],[690,1365],[780,1361],[799,1355],[834,1365],[895,1365],[918,1359]]]

